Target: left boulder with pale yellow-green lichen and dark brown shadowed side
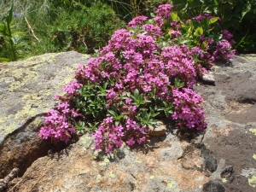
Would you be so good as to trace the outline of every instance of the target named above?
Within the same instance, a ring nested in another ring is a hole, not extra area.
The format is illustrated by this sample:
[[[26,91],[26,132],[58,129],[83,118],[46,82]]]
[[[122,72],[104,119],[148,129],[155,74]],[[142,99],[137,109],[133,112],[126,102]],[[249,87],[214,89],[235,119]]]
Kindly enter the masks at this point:
[[[38,128],[44,114],[55,107],[53,97],[64,94],[62,87],[88,58],[71,51],[0,63],[0,178],[13,167],[20,168],[21,176],[34,160],[47,154],[51,143],[42,142]]]

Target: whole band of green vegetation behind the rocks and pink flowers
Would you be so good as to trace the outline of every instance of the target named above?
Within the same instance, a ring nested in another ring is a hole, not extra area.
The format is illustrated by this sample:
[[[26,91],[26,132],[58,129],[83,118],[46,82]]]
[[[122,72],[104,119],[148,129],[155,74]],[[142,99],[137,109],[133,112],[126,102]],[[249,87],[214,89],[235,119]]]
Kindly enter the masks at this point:
[[[11,30],[27,34],[19,35],[16,42],[22,47],[15,51],[20,59],[67,50],[92,54],[107,44],[113,32],[125,22],[137,15],[149,16],[158,5],[172,2],[173,10],[183,19],[204,14],[219,17],[222,20],[219,27],[231,32],[238,52],[255,52],[256,2],[253,0],[2,0],[0,21],[3,23],[14,4],[13,11],[20,16],[15,18]],[[9,40],[3,41],[2,34],[0,57],[12,60],[9,58],[14,55],[10,55],[4,42],[10,45]]]

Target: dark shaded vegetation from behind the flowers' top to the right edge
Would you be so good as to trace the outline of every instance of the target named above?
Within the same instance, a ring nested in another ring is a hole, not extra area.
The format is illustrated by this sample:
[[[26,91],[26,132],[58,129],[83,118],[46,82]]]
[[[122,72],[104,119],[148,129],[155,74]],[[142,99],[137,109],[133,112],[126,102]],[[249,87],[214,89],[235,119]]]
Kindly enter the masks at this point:
[[[173,10],[183,19],[210,14],[222,20],[219,26],[234,36],[239,53],[256,51],[256,1],[255,0],[109,0],[115,12],[125,21],[137,15],[149,16],[163,3],[173,3]]]

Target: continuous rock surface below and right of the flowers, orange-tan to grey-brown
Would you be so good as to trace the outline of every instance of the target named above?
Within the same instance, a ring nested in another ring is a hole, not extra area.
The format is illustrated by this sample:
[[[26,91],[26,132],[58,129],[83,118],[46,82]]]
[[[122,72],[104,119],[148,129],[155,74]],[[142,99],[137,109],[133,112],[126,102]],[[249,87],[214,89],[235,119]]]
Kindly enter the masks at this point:
[[[230,64],[217,63],[212,74],[215,84],[199,82],[195,86],[206,100],[203,107],[208,124],[197,137],[181,141],[177,130],[167,127],[164,135],[151,137],[144,146],[124,145],[113,157],[93,153],[93,141],[87,134],[61,152],[34,161],[16,179],[15,188],[14,182],[9,189],[255,191],[256,55],[235,56]]]

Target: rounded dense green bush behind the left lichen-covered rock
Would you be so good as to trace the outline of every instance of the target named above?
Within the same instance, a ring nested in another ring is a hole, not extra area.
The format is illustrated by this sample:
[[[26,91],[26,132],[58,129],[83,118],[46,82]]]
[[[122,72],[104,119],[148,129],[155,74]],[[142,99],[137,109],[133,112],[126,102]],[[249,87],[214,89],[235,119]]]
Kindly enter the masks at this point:
[[[124,25],[108,5],[93,3],[90,8],[76,4],[77,9],[65,11],[47,29],[44,43],[47,52],[76,50],[93,53],[107,44],[114,30]],[[42,46],[44,49],[44,45]]]

